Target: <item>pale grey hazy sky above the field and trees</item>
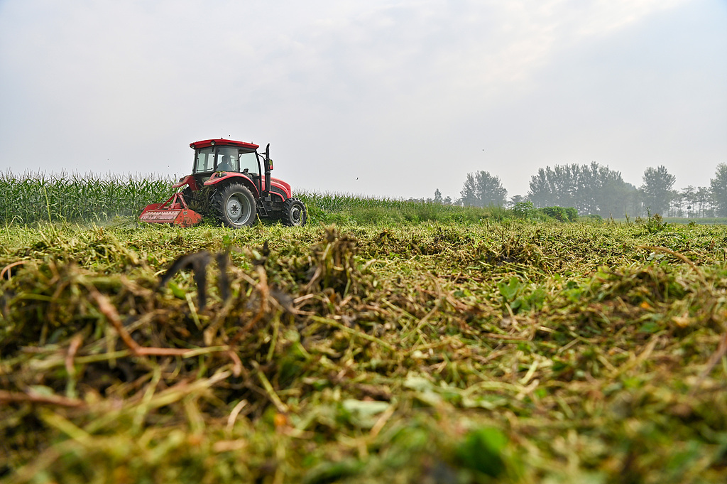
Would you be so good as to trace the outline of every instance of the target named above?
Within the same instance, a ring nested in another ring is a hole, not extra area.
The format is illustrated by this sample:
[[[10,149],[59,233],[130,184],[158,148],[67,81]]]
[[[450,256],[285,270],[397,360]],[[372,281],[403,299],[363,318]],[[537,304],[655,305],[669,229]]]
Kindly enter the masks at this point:
[[[727,0],[0,0],[0,170],[190,171],[265,146],[295,189],[526,194],[592,161],[727,162]]]

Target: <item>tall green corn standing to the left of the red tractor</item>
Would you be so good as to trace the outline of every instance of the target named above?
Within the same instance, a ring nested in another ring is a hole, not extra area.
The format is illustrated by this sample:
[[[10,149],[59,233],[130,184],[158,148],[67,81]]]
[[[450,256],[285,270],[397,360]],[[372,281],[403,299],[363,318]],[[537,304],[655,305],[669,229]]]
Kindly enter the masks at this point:
[[[0,223],[107,221],[172,195],[172,178],[95,173],[0,173]]]

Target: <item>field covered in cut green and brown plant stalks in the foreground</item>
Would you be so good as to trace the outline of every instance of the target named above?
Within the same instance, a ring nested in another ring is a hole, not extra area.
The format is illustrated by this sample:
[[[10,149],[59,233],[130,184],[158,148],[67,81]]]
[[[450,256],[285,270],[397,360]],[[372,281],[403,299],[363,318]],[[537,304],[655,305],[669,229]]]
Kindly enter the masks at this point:
[[[726,255],[652,221],[8,226],[0,479],[723,483]]]

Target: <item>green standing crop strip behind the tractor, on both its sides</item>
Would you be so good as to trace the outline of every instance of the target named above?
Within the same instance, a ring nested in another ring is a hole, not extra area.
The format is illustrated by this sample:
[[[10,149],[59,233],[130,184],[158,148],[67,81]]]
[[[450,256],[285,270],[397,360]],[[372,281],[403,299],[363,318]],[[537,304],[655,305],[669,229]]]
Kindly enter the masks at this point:
[[[150,203],[172,196],[173,178],[107,173],[0,172],[0,224],[104,222],[136,216]],[[320,223],[477,222],[502,218],[498,207],[457,207],[422,200],[298,191],[310,221]]]

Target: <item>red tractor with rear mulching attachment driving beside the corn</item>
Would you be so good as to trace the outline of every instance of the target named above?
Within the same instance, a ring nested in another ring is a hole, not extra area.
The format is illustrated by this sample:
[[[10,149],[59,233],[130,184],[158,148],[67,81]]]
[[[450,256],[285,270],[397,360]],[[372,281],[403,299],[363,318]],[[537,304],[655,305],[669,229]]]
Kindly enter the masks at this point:
[[[188,227],[202,220],[196,208],[233,229],[250,226],[257,217],[287,226],[305,225],[308,211],[303,202],[291,197],[288,183],[270,176],[270,144],[264,156],[257,152],[259,147],[225,139],[190,144],[192,174],[172,186],[186,188],[164,203],[148,205],[140,219]]]

